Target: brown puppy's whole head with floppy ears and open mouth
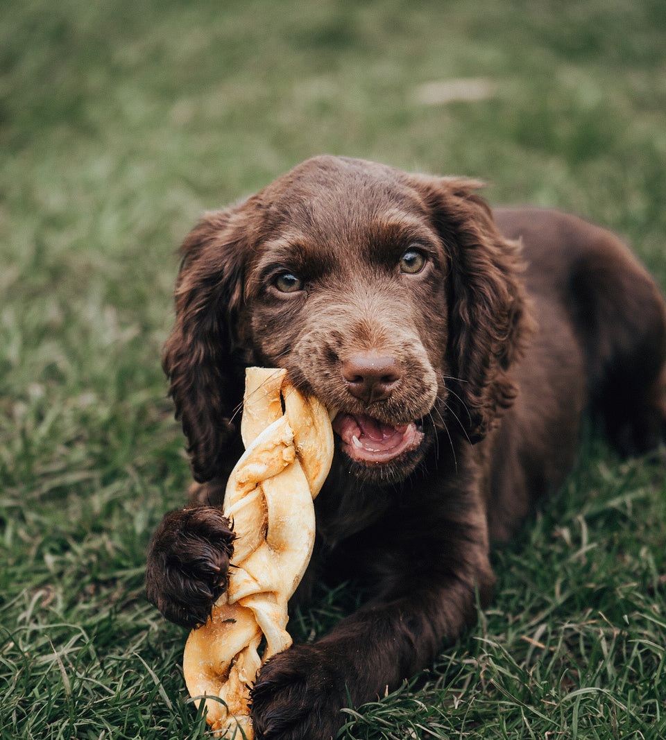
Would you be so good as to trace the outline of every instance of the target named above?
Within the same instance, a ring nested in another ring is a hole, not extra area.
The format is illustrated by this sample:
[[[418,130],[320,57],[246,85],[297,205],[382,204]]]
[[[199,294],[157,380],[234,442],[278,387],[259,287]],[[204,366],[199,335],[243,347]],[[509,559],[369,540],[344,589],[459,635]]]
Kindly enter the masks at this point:
[[[320,157],[203,218],[164,354],[198,480],[221,469],[250,364],[334,408],[366,480],[403,479],[440,432],[485,436],[514,398],[525,300],[478,186]]]

